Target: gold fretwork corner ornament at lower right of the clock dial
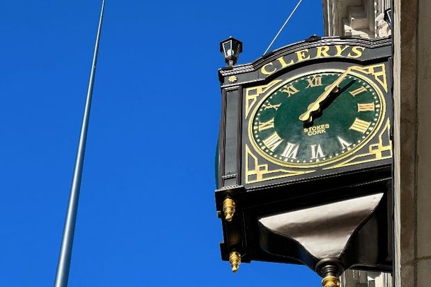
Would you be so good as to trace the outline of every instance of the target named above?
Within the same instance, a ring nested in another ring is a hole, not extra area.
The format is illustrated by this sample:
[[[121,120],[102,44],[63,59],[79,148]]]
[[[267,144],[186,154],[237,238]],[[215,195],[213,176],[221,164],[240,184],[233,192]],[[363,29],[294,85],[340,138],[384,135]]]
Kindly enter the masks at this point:
[[[392,157],[392,141],[391,141],[391,122],[386,120],[386,125],[379,133],[379,142],[369,145],[368,152],[364,154],[356,154],[354,157],[339,162],[332,167],[325,169],[336,169],[338,167],[348,167],[355,164],[363,164],[365,162],[374,162],[380,159],[390,159]]]

